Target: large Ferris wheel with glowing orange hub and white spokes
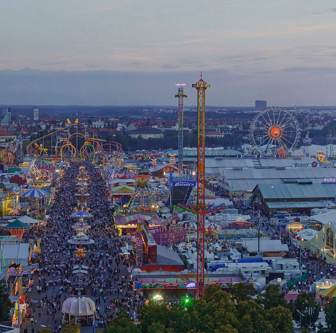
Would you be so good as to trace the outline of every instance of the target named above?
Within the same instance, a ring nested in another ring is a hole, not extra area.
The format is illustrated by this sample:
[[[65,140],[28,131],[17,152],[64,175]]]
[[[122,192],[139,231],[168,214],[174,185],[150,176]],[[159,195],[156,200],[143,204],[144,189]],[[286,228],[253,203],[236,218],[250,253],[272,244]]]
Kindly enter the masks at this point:
[[[262,154],[272,146],[288,152],[300,139],[300,128],[294,115],[282,107],[268,107],[260,111],[250,126],[251,144]]]

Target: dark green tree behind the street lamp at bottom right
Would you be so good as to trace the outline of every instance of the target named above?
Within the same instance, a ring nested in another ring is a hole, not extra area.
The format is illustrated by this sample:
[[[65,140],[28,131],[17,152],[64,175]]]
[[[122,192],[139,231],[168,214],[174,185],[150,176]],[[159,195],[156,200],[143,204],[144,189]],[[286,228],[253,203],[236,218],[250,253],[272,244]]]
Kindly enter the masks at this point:
[[[299,294],[295,301],[290,301],[288,304],[288,308],[291,310],[293,319],[297,324],[300,324],[300,314],[297,312],[297,310],[304,315],[304,317],[301,316],[301,326],[303,328],[309,327],[309,307],[312,308],[312,315],[310,316],[310,327],[315,328],[315,323],[319,319],[321,308],[319,304],[315,302],[312,293]]]

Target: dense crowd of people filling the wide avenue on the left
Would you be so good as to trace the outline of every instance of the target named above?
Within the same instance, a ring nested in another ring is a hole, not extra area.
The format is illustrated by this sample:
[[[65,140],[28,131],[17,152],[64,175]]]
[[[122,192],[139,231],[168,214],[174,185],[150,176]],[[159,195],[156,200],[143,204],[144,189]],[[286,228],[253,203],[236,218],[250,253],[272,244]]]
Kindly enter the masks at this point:
[[[89,196],[87,201],[78,202],[75,193],[80,189],[77,176],[81,165],[85,166],[88,176],[85,191]],[[38,300],[39,315],[48,315],[47,323],[41,324],[48,324],[54,327],[55,331],[59,331],[61,323],[57,313],[61,312],[62,302],[74,295],[72,282],[76,280],[76,276],[73,275],[73,265],[79,264],[88,266],[88,274],[84,278],[84,281],[88,282],[86,297],[91,296],[96,304],[96,328],[105,328],[121,310],[126,311],[131,318],[132,309],[143,306],[146,298],[133,292],[127,274],[129,262],[120,253],[120,248],[125,245],[127,238],[121,238],[116,233],[107,188],[98,170],[92,163],[71,162],[71,166],[66,168],[61,178],[56,181],[56,187],[46,231],[35,235],[36,244],[37,239],[41,238],[42,251],[34,288],[37,294],[41,295]],[[70,215],[82,205],[84,210],[88,209],[93,214],[91,219],[85,220],[91,226],[88,236],[94,241],[87,247],[86,259],[80,256],[76,258],[75,250],[79,246],[68,242],[75,236],[76,231],[72,226],[78,222]],[[33,302],[28,301],[33,328],[36,325],[35,321],[40,321],[36,318],[35,307]],[[82,319],[79,318],[80,321]],[[64,321],[68,320],[66,315]],[[89,320],[89,323],[92,324],[92,320]]]

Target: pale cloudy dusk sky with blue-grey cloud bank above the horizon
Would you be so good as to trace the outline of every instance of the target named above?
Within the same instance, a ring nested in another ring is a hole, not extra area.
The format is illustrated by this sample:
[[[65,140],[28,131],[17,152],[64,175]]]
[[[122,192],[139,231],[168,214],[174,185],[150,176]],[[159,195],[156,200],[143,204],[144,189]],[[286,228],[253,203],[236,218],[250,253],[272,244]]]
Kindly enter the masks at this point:
[[[336,104],[334,0],[13,0],[0,104]]]

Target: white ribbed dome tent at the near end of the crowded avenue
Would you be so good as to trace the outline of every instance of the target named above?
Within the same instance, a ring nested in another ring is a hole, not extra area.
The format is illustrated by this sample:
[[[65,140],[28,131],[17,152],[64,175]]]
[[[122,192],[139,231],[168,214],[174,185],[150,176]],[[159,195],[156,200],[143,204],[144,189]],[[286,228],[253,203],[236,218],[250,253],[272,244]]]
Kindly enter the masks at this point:
[[[79,305],[79,313],[78,313]],[[91,324],[93,316],[96,313],[96,306],[94,301],[88,297],[70,297],[67,298],[62,305],[62,322],[66,318],[73,319],[79,314],[79,321],[82,325]],[[95,316],[96,317],[96,316]]]

